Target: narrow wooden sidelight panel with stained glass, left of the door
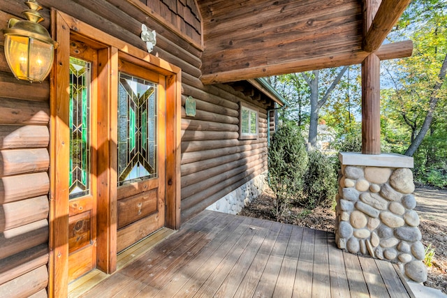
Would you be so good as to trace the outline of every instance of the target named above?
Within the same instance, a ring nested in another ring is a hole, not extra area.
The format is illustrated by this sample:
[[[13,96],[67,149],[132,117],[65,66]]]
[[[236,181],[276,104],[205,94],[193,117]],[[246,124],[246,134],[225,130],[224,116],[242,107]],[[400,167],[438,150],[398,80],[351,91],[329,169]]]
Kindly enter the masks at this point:
[[[68,136],[68,281],[96,268],[97,54],[71,43]],[[99,161],[101,162],[101,161]]]

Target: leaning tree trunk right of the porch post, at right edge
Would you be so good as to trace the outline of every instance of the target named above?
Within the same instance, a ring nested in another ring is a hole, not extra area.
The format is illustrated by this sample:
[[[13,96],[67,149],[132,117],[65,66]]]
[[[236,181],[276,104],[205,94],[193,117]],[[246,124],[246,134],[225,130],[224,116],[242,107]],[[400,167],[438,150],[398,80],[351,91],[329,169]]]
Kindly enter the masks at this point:
[[[411,142],[408,149],[406,149],[405,151],[406,156],[413,156],[416,150],[418,150],[420,143],[422,143],[422,141],[424,140],[424,137],[427,134],[430,125],[432,124],[433,113],[434,110],[436,109],[439,100],[438,91],[439,89],[441,89],[441,86],[446,78],[446,71],[447,71],[447,54],[446,57],[444,57],[444,62],[442,63],[441,70],[439,70],[439,80],[436,84],[434,84],[432,94],[430,95],[430,108],[428,109],[427,116],[425,116],[424,123],[420,128],[418,135],[416,135],[413,142]]]

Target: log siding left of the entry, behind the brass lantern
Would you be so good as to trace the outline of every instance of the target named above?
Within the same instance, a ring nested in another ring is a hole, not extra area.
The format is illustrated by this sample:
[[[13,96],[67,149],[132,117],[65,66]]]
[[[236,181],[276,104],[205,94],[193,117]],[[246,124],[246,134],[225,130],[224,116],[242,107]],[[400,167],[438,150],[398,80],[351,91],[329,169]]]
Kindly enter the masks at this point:
[[[1,1],[0,24],[24,7]],[[45,22],[45,25],[49,22]],[[15,79],[0,36],[0,296],[46,295],[49,81]]]

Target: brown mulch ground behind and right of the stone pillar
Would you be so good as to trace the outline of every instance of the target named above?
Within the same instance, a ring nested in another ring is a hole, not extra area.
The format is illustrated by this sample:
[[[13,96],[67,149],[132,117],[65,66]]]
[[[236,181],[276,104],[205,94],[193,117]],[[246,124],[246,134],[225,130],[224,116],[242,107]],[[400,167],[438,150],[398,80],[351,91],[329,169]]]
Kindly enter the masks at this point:
[[[273,210],[274,193],[268,189],[242,209],[239,215],[276,221]],[[291,207],[280,222],[334,232],[335,210],[332,207],[316,207],[314,210]],[[440,223],[422,218],[419,228],[423,234],[423,244],[425,246],[432,244],[435,251],[432,266],[427,267],[428,278],[424,285],[447,294],[447,228]]]

